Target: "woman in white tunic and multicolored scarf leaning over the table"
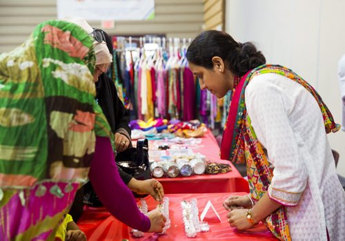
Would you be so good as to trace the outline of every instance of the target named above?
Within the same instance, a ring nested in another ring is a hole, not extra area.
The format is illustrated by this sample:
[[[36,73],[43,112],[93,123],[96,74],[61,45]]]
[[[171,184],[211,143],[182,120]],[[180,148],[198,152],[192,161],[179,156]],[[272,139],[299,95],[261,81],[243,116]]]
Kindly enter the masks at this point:
[[[224,202],[230,226],[262,221],[279,240],[345,240],[345,193],[326,137],[339,126],[313,87],[225,32],[201,33],[187,59],[201,89],[233,90],[221,158],[246,163],[250,195]]]

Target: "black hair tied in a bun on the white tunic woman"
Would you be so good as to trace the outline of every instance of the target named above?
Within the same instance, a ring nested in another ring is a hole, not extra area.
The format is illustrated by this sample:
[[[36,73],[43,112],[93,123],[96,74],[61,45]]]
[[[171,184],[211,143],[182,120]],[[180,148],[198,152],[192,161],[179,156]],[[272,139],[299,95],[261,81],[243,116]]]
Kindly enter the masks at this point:
[[[248,70],[266,63],[262,52],[254,44],[237,43],[226,32],[208,30],[198,35],[187,50],[188,62],[204,68],[213,68],[212,58],[223,59],[230,71],[242,77]]]

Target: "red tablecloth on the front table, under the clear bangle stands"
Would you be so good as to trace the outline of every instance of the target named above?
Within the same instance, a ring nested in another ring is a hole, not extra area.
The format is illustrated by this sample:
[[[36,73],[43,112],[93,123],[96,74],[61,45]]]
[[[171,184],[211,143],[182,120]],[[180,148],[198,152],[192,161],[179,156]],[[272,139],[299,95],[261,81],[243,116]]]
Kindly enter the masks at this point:
[[[186,237],[184,231],[184,223],[182,220],[181,206],[182,200],[189,200],[190,198],[197,198],[199,215],[204,210],[206,202],[210,200],[219,213],[221,222],[216,222],[216,216],[212,212],[208,213],[208,224],[210,231],[207,233],[198,233],[196,238],[192,240],[276,240],[273,235],[260,223],[255,228],[246,232],[239,232],[229,226],[226,220],[227,211],[223,208],[222,202],[229,195],[245,195],[246,193],[204,193],[204,194],[168,194],[170,200],[170,229],[166,231],[165,235],[157,235],[152,233],[145,233],[143,238],[134,238],[130,235],[130,228],[122,224],[116,218],[112,217],[104,208],[90,209],[83,212],[81,219],[78,222],[80,229],[86,233],[89,241],[92,240],[190,240]],[[157,202],[152,200],[152,197],[146,197],[148,202],[148,209],[155,209]],[[211,211],[211,210],[209,210]]]

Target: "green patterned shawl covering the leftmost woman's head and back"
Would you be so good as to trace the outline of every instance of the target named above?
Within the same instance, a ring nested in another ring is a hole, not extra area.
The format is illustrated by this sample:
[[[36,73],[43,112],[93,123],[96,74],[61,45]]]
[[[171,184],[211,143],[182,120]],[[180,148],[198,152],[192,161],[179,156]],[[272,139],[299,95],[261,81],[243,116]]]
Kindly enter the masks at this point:
[[[0,55],[1,188],[88,177],[95,136],[112,136],[95,103],[93,41],[51,20]]]

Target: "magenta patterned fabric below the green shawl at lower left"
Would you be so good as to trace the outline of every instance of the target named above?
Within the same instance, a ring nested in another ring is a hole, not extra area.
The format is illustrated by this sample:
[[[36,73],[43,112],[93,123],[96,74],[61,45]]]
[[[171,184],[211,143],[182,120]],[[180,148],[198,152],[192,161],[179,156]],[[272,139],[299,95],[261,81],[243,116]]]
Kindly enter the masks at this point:
[[[72,191],[67,193],[65,191],[67,185],[68,183],[62,182],[41,182],[40,184],[36,184],[31,189],[27,189],[28,191],[24,191],[23,195],[26,199],[26,203],[23,205],[19,197],[20,192],[17,191],[17,193],[14,193],[7,204],[3,205],[0,209],[0,221],[2,226],[0,229],[0,237],[3,238],[0,240],[12,240],[11,237],[15,237],[27,231],[34,225],[44,227],[43,220],[54,217],[57,213],[61,213],[61,218],[63,218],[63,212],[65,212],[68,205],[73,202],[79,186],[77,183],[72,183]],[[50,190],[54,186],[61,190],[61,197],[57,197],[50,193]],[[42,187],[46,188],[46,193],[41,197],[37,197],[35,193],[37,189]],[[55,228],[55,226],[52,226],[52,229],[53,228]],[[39,233],[39,236],[35,238],[48,238],[52,229],[45,233]]]

